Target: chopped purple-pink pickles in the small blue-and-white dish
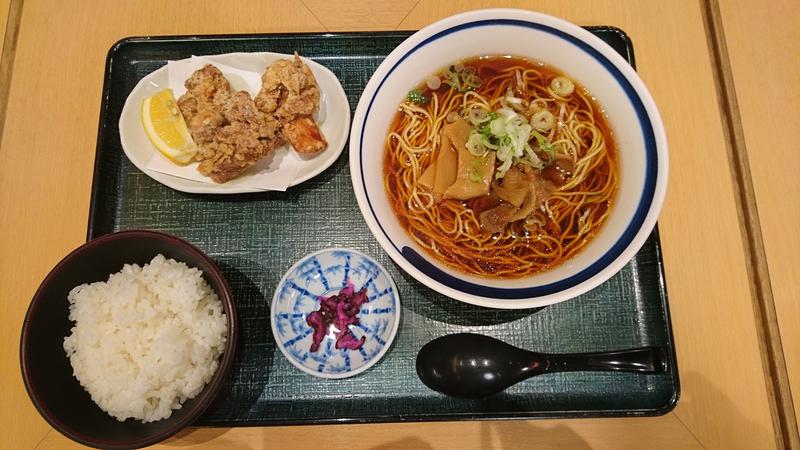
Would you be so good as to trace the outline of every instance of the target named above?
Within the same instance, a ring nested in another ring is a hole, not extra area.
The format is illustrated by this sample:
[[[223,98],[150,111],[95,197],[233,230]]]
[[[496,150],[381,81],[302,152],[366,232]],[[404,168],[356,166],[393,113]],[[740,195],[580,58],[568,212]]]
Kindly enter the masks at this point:
[[[366,337],[356,339],[350,331],[350,325],[358,324],[358,312],[361,305],[367,301],[367,288],[362,288],[356,292],[350,280],[347,280],[345,287],[338,294],[330,297],[319,296],[319,309],[306,317],[306,323],[314,329],[311,336],[311,351],[316,352],[328,328],[335,325],[336,329],[336,348],[347,348],[358,350],[364,345]]]

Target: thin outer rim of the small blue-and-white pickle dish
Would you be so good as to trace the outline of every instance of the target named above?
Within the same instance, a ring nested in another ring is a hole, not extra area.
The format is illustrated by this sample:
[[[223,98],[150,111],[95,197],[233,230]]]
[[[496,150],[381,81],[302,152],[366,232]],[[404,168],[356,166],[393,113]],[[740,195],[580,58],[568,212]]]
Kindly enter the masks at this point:
[[[328,374],[328,373],[320,373],[320,372],[316,372],[316,371],[311,370],[310,368],[308,368],[308,367],[304,366],[303,364],[301,364],[300,362],[298,362],[295,359],[295,357],[291,353],[289,353],[289,351],[286,349],[286,347],[283,345],[283,342],[281,342],[281,340],[278,338],[278,335],[277,335],[277,330],[276,330],[276,326],[275,326],[275,314],[276,314],[275,307],[276,307],[276,304],[277,304],[277,301],[278,301],[278,296],[279,296],[279,294],[281,292],[281,289],[283,288],[283,285],[286,284],[286,281],[289,279],[289,276],[292,273],[294,273],[294,271],[297,270],[297,268],[299,268],[300,265],[302,265],[304,262],[306,262],[306,260],[308,260],[311,257],[318,256],[318,255],[321,255],[321,254],[324,254],[324,253],[333,253],[333,252],[352,253],[352,254],[361,256],[362,258],[364,258],[364,259],[368,260],[369,262],[375,264],[375,266],[378,268],[378,270],[380,270],[381,273],[386,277],[386,279],[389,280],[389,285],[392,287],[394,303],[396,305],[396,307],[395,307],[396,314],[395,314],[395,318],[394,318],[394,323],[392,323],[392,334],[391,334],[391,336],[389,336],[389,339],[386,339],[383,348],[380,350],[380,352],[378,352],[377,355],[375,355],[375,357],[373,359],[368,361],[363,366],[360,366],[360,367],[355,368],[355,369],[351,369],[351,370],[349,370],[347,372]],[[375,364],[377,364],[378,361],[380,361],[384,357],[384,355],[386,355],[386,353],[389,351],[389,347],[392,346],[392,343],[394,342],[394,339],[397,336],[398,329],[400,328],[400,315],[401,315],[400,292],[397,290],[397,284],[395,284],[394,279],[392,278],[392,276],[389,273],[389,271],[386,270],[385,267],[383,267],[383,264],[381,264],[378,261],[376,261],[375,258],[373,258],[373,257],[371,257],[369,255],[366,255],[366,254],[364,254],[364,253],[362,253],[362,252],[360,252],[358,250],[353,250],[351,248],[344,248],[344,247],[325,248],[325,249],[318,250],[316,252],[312,252],[312,253],[309,253],[307,255],[304,255],[300,259],[298,259],[297,262],[292,264],[292,267],[290,267],[288,270],[286,270],[286,273],[283,274],[283,276],[281,277],[281,280],[275,286],[275,293],[272,295],[272,303],[270,304],[270,307],[269,307],[269,323],[270,323],[270,328],[272,329],[272,338],[275,339],[275,345],[278,347],[278,349],[280,349],[280,351],[283,354],[284,358],[286,358],[286,360],[289,361],[293,366],[297,367],[298,369],[302,370],[303,372],[305,372],[305,373],[307,373],[309,375],[312,375],[312,376],[315,376],[315,377],[319,377],[319,378],[332,379],[332,380],[342,379],[342,378],[350,378],[350,377],[359,375],[361,373],[364,373],[370,367],[372,367]]]

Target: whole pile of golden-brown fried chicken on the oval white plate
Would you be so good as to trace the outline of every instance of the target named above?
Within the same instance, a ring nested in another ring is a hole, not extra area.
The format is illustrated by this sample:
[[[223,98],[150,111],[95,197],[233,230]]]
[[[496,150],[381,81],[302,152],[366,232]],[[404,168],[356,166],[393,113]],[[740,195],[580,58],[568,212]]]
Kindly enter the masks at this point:
[[[197,170],[217,183],[236,178],[284,139],[306,155],[328,146],[312,117],[319,110],[319,86],[297,53],[293,60],[275,61],[261,80],[255,99],[234,92],[211,64],[185,82],[178,107],[198,147]]]

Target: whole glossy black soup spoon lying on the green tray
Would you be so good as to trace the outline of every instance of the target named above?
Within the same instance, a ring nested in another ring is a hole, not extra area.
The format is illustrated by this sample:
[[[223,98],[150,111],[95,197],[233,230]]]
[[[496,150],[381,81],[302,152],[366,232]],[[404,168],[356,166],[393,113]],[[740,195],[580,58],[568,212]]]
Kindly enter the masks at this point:
[[[661,373],[658,347],[596,353],[547,354],[514,347],[480,334],[436,338],[417,354],[417,375],[429,388],[454,397],[484,397],[535,375],[602,370]]]

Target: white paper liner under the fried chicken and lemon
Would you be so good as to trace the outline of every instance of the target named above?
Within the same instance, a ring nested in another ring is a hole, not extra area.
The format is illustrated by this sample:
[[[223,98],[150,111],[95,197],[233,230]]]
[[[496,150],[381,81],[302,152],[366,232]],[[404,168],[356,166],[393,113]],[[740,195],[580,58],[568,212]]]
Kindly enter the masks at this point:
[[[257,64],[249,64],[250,67],[233,67],[225,64],[225,62],[235,63],[234,56],[235,54],[192,56],[180,61],[169,61],[167,63],[169,80],[167,87],[172,89],[172,93],[177,99],[186,92],[184,82],[192,73],[206,64],[213,64],[230,82],[234,91],[244,90],[254,97],[261,89],[261,73],[267,63],[264,62],[260,68],[253,67]],[[210,178],[197,171],[197,165],[198,163],[195,162],[179,166],[168,160],[161,153],[154,152],[146,167],[150,170],[176,177],[215,184]],[[286,144],[276,148],[269,156],[261,159],[242,175],[228,181],[226,184],[265,191],[285,191],[294,182],[301,165],[301,157]]]

